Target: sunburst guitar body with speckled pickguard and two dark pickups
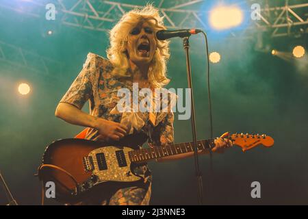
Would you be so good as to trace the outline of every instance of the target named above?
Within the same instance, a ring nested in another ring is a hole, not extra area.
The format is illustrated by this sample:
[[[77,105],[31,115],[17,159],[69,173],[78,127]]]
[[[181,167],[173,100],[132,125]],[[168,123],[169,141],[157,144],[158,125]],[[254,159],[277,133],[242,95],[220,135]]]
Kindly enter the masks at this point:
[[[138,138],[140,140],[140,138]],[[129,151],[143,142],[127,136],[119,142],[95,142],[68,138],[47,146],[38,175],[44,185],[55,183],[55,199],[77,203],[94,188],[142,180],[132,171]],[[127,146],[124,146],[127,145]]]

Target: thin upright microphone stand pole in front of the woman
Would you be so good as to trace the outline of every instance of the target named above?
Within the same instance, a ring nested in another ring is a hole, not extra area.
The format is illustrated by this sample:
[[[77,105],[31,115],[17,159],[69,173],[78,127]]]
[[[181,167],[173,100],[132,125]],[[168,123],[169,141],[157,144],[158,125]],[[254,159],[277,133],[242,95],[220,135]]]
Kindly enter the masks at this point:
[[[198,162],[198,148],[197,148],[197,138],[196,138],[196,119],[195,119],[195,113],[194,113],[194,95],[192,92],[192,73],[190,69],[190,54],[189,54],[189,48],[190,48],[190,42],[188,37],[183,38],[183,47],[185,50],[186,55],[186,68],[187,68],[187,79],[188,79],[188,88],[190,88],[190,102],[192,104],[191,110],[192,110],[192,138],[194,141],[194,166],[196,169],[196,178],[198,183],[198,204],[203,205],[203,183],[202,183],[202,174],[199,167]]]

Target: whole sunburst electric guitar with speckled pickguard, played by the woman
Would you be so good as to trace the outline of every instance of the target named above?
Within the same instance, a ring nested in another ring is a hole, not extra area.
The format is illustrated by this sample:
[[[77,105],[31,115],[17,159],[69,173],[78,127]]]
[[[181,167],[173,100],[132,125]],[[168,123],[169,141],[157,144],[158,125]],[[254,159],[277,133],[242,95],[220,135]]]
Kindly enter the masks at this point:
[[[242,151],[253,149],[259,144],[266,147],[274,144],[270,136],[259,134],[236,133],[227,138],[234,145],[240,146]],[[198,150],[210,150],[210,142],[199,140]],[[38,168],[38,176],[43,183],[55,183],[57,201],[76,203],[84,194],[105,183],[143,180],[133,172],[135,165],[194,151],[193,142],[136,150],[138,145],[140,141],[136,136],[125,136],[118,142],[106,143],[77,138],[57,140],[47,146],[42,165]]]

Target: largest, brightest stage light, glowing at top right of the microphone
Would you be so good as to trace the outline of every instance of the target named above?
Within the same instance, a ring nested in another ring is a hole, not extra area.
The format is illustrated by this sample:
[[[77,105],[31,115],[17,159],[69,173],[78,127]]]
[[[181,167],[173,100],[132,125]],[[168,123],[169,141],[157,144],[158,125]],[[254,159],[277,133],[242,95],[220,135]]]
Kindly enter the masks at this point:
[[[243,17],[237,6],[217,6],[209,12],[209,25],[214,29],[229,29],[240,25]]]

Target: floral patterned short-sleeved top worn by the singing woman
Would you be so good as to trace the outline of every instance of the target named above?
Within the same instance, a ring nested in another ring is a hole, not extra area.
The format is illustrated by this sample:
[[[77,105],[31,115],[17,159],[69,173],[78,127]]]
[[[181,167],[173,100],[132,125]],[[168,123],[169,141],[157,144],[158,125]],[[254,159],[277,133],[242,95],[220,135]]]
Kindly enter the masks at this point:
[[[151,122],[153,120],[149,119],[149,112],[125,113],[115,110],[120,100],[118,90],[127,88],[130,92],[133,92],[133,83],[131,77],[114,77],[113,70],[116,69],[109,60],[94,53],[88,53],[84,67],[60,102],[70,103],[81,109],[86,101],[89,101],[92,116],[105,118],[117,123],[124,123],[127,120],[133,120],[132,118],[135,118],[135,120],[137,118],[138,124],[131,125],[133,133],[145,133],[149,137],[149,143],[154,146],[172,144],[174,141],[174,114],[172,110],[156,112],[154,123]],[[164,88],[161,89],[162,92],[172,94]],[[138,99],[141,101],[142,97],[138,95]],[[170,107],[170,99],[163,99],[160,96],[160,101],[161,105],[164,104],[164,101],[168,101],[166,104]],[[98,131],[91,128],[86,134],[86,139],[97,140],[98,136]]]

